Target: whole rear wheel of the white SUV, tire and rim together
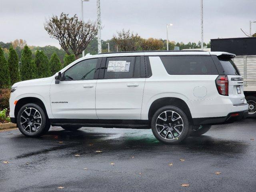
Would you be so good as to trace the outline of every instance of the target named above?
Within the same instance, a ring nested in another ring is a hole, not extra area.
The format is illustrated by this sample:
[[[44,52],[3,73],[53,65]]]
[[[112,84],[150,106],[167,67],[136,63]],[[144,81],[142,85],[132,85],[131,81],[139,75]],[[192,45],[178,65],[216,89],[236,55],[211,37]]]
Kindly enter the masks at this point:
[[[159,126],[156,124],[163,125]],[[158,109],[152,117],[151,128],[154,136],[165,144],[178,144],[190,134],[188,118],[186,114],[176,106],[164,106]]]

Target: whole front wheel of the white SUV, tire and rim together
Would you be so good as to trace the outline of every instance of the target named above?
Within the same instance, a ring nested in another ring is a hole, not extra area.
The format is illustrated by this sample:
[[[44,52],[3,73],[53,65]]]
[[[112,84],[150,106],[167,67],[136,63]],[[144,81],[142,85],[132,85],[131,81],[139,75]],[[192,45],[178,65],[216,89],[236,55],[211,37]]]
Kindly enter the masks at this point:
[[[29,112],[29,115],[27,114],[28,112]],[[48,119],[46,117],[46,114],[44,113],[44,110],[37,104],[34,104],[34,103],[25,104],[20,108],[18,112],[17,126],[20,132],[27,137],[39,137],[43,135],[45,131],[48,129],[47,122],[48,122]],[[36,127],[38,126],[38,128],[34,127],[35,124],[36,124]]]

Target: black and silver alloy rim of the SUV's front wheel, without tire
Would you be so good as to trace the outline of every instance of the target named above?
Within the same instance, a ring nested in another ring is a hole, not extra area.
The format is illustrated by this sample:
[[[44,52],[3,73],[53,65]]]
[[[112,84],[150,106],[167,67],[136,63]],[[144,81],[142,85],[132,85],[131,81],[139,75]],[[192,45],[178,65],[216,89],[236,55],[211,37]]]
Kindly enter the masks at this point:
[[[20,125],[28,133],[37,132],[42,124],[42,116],[35,108],[26,108],[20,116]]]

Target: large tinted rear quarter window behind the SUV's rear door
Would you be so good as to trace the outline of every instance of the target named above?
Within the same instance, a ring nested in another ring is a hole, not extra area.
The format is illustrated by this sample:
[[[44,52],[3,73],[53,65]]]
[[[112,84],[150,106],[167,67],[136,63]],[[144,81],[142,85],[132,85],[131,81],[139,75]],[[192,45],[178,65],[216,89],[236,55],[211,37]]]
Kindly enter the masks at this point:
[[[211,56],[160,56],[170,75],[218,75]]]

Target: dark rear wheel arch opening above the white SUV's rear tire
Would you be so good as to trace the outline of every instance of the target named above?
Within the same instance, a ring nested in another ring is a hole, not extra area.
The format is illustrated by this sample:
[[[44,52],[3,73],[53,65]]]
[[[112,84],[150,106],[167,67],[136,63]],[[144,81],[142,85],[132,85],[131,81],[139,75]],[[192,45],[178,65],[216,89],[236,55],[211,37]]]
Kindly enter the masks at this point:
[[[189,122],[193,122],[190,109],[189,109],[188,105],[186,104],[186,102],[184,100],[182,100],[180,98],[176,98],[176,97],[158,98],[154,102],[152,102],[152,104],[150,105],[149,111],[148,111],[148,120],[151,122],[154,113],[159,108],[168,106],[168,105],[176,106],[176,107],[180,108],[181,110],[183,110],[184,113],[187,115]]]

